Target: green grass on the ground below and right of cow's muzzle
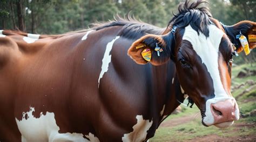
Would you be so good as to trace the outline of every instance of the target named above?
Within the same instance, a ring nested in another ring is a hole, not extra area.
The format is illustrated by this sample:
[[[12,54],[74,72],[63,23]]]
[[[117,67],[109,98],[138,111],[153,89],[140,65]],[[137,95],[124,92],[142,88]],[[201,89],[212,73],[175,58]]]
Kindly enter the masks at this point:
[[[250,68],[251,70],[256,70],[256,63],[251,66],[251,64],[244,64],[235,66],[232,69],[232,85],[240,85],[241,83],[246,82],[248,79],[256,81],[256,76],[245,77],[245,78],[237,78],[239,71],[244,70],[245,67]],[[244,92],[246,89],[251,87],[250,85],[246,84],[238,90],[234,90],[232,92],[234,97],[237,97],[239,94]],[[253,88],[251,91],[246,92],[240,95],[237,99],[239,104],[241,113],[248,114],[252,110],[256,109],[256,88]],[[184,103],[186,104],[186,103]],[[156,131],[156,134],[150,141],[186,141],[189,139],[203,137],[211,134],[216,134],[220,137],[234,137],[234,136],[247,136],[253,135],[256,133],[255,126],[249,126],[252,123],[256,123],[256,117],[247,117],[241,118],[240,120],[236,121],[236,124],[241,124],[241,126],[231,126],[227,129],[219,129],[217,127],[205,127],[201,124],[201,116],[199,109],[194,105],[191,109],[189,107],[184,107],[181,105],[183,111],[178,114],[172,114],[165,120],[169,119],[177,119],[181,117],[185,117],[188,115],[194,115],[195,118],[187,123],[183,123],[181,125],[173,126],[173,127],[159,127]],[[243,126],[245,124],[245,126]],[[248,125],[248,126],[247,126]]]

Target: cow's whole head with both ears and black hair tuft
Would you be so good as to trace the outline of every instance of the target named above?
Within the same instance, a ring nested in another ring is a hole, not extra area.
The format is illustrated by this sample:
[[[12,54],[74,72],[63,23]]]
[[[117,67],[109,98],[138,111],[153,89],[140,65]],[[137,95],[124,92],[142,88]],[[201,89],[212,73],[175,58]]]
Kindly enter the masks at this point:
[[[201,111],[203,125],[228,127],[239,119],[239,107],[231,95],[233,43],[236,50],[241,51],[235,36],[240,31],[245,36],[256,35],[253,30],[256,23],[221,25],[206,7],[200,6],[202,3],[179,5],[179,13],[169,22],[165,35],[138,39],[128,55],[138,64],[161,65],[172,59],[181,86]],[[251,48],[255,48],[255,44]],[[151,53],[149,59],[141,54],[146,50]]]

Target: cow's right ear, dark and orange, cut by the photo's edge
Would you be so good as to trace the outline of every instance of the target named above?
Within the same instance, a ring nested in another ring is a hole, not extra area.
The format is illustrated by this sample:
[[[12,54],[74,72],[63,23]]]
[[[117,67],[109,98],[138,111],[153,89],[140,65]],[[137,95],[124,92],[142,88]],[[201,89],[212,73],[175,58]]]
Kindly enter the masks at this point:
[[[256,23],[251,21],[241,21],[232,26],[224,25],[226,35],[231,39],[231,42],[237,48],[237,52],[241,52],[243,50],[239,39],[237,39],[237,35],[239,37],[240,33],[244,35],[249,43],[250,49],[256,48]]]

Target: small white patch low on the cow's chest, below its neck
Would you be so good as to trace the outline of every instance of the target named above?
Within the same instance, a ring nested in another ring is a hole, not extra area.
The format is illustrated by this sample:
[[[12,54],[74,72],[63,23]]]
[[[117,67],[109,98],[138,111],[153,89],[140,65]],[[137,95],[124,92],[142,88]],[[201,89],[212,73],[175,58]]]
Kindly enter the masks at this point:
[[[152,126],[153,120],[144,120],[142,115],[137,115],[136,119],[137,124],[132,127],[133,131],[124,134],[122,141],[143,141],[146,139],[147,131]]]

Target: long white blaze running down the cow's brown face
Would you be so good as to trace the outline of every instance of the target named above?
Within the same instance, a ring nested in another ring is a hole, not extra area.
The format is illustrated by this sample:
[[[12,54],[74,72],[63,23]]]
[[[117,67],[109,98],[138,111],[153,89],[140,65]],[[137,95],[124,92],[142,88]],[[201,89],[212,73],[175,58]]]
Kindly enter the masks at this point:
[[[202,64],[206,65],[207,71],[210,73],[211,78],[213,79],[215,97],[206,101],[206,117],[203,120],[206,125],[212,125],[214,123],[214,118],[211,112],[211,104],[234,98],[228,96],[224,90],[218,69],[219,45],[224,32],[218,29],[215,25],[209,25],[208,29],[209,37],[206,38],[201,32],[199,32],[198,36],[197,31],[193,30],[192,27],[188,25],[185,28],[183,40],[188,40],[192,44],[193,49],[201,58]],[[239,116],[237,117],[239,118]]]

